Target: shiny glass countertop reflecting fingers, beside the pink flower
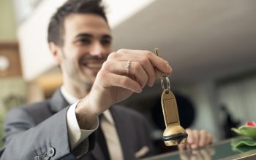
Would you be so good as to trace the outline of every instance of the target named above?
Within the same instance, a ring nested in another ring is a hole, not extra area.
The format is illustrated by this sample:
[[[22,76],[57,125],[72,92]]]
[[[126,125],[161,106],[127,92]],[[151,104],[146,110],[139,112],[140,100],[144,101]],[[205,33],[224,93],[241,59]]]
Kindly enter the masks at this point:
[[[172,152],[172,153],[165,153],[159,156],[152,156],[148,157],[143,160],[189,160],[189,159],[223,159],[229,156],[238,155],[240,153],[246,153],[248,151],[255,151],[255,147],[248,147],[244,146],[241,148],[232,148],[230,145],[232,139],[224,140],[220,143],[206,146],[205,148],[200,148],[197,150],[192,151],[184,151],[184,152]],[[255,158],[256,159],[256,158]]]

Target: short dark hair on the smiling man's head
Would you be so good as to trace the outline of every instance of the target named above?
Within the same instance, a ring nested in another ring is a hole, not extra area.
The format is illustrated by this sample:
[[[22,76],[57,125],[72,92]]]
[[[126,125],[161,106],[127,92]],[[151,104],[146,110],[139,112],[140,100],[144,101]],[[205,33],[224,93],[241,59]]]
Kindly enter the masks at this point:
[[[48,43],[53,42],[59,46],[64,43],[64,20],[72,13],[94,14],[103,17],[108,23],[105,15],[105,7],[101,0],[68,0],[50,18],[48,25]]]

